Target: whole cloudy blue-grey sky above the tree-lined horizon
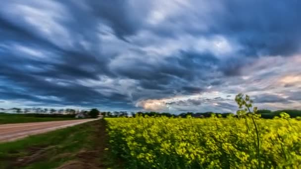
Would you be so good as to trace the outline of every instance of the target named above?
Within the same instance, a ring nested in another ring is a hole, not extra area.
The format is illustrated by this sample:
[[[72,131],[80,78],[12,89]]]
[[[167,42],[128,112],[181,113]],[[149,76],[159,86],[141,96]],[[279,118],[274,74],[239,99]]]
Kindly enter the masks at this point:
[[[0,107],[301,109],[300,0],[0,0]]]

